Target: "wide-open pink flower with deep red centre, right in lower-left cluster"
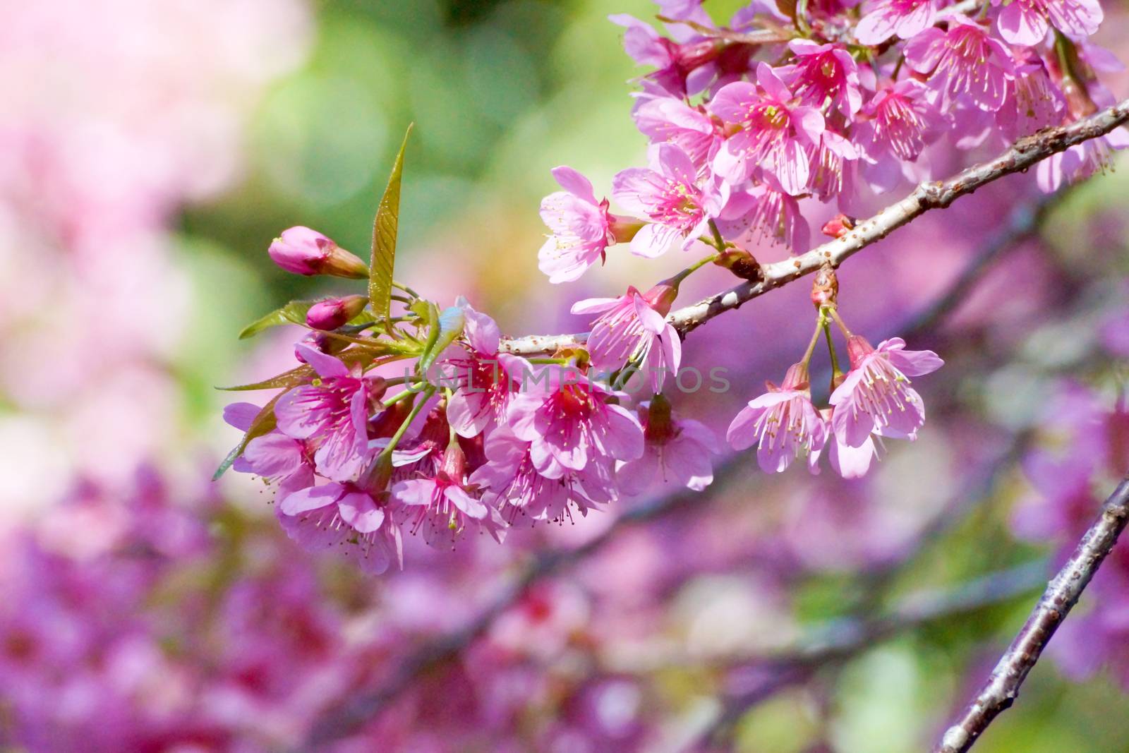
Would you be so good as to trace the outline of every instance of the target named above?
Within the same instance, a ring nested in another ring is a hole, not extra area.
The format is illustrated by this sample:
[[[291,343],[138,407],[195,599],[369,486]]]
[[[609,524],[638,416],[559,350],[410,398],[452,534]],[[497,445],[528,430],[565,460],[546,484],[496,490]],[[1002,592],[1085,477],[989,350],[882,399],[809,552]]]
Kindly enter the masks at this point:
[[[612,404],[613,393],[575,369],[543,366],[522,385],[506,411],[507,423],[541,473],[554,464],[581,471],[589,463],[631,461],[642,455],[642,427]]]

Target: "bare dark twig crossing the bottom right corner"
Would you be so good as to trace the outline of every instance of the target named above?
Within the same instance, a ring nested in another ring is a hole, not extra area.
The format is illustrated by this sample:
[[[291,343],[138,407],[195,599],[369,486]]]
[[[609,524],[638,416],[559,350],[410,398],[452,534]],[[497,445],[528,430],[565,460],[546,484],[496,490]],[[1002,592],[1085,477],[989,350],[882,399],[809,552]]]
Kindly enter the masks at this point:
[[[1129,476],[1105,500],[1101,515],[1083,535],[1074,554],[1048,584],[1026,623],[1000,657],[964,713],[934,748],[935,753],[964,753],[988,725],[1015,702],[1019,686],[1039,660],[1054,631],[1078,603],[1082,592],[1113,549],[1129,522]]]

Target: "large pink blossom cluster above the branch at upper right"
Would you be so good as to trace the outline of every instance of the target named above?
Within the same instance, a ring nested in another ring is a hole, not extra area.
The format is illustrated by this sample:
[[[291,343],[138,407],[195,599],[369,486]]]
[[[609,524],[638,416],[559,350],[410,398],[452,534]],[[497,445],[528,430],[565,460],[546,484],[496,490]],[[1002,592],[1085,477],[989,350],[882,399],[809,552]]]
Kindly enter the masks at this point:
[[[542,203],[551,282],[575,280],[609,247],[654,257],[697,242],[807,249],[819,203],[851,213],[873,193],[943,177],[930,150],[1009,142],[1113,104],[1095,71],[1119,70],[1089,42],[1097,0],[867,0],[752,3],[729,25],[700,2],[663,3],[673,38],[630,16],[641,65],[632,112],[650,164],[614,177],[611,213],[568,167]],[[948,143],[940,143],[947,141]],[[1101,169],[1121,131],[1039,166],[1045,191]],[[938,155],[944,154],[938,151]],[[812,200],[809,202],[800,202]],[[802,211],[803,210],[803,211]]]

